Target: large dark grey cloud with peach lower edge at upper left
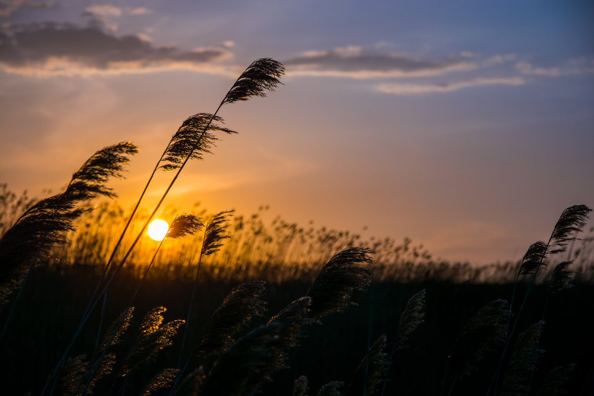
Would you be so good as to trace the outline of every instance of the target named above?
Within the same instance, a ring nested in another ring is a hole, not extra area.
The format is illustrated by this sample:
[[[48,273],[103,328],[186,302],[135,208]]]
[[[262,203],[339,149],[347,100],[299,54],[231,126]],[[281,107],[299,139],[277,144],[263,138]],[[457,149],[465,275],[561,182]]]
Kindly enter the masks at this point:
[[[192,69],[226,74],[225,47],[183,51],[153,46],[147,37],[115,36],[93,24],[27,24],[0,31],[0,69],[26,75],[121,74]]]

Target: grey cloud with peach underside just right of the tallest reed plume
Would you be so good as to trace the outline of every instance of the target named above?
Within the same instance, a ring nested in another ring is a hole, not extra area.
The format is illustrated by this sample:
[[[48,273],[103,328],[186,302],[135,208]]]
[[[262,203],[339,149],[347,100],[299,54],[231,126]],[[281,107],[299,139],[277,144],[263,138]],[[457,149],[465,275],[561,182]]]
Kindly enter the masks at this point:
[[[425,77],[478,68],[458,56],[437,61],[399,54],[366,53],[362,47],[310,50],[284,62],[289,75],[349,78]]]

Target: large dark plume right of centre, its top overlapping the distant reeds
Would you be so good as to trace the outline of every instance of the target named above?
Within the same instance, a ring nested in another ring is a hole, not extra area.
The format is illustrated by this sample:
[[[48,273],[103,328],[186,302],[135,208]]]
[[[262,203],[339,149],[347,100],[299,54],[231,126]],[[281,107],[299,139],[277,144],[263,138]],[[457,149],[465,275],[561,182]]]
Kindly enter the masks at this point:
[[[311,297],[311,318],[321,319],[347,306],[356,305],[350,296],[356,290],[364,290],[371,283],[372,272],[360,266],[371,264],[366,248],[347,248],[335,254],[315,278],[306,296]]]

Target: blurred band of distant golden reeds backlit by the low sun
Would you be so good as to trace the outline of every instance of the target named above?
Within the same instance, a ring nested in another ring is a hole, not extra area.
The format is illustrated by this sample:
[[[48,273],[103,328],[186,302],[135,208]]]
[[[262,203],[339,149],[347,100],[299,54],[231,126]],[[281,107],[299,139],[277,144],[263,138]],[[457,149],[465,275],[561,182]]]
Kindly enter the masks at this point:
[[[20,198],[27,202],[26,198]],[[165,207],[159,218],[169,222],[179,210]],[[211,214],[205,208],[195,207],[193,214],[208,218]],[[140,230],[148,217],[146,210],[137,213],[138,220],[131,224],[131,234]],[[7,218],[0,214],[0,219]],[[434,258],[422,245],[415,245],[408,238],[402,241],[386,237],[364,239],[348,230],[307,226],[287,222],[281,217],[266,220],[267,207],[261,207],[250,216],[235,214],[230,217],[229,233],[232,236],[217,254],[203,259],[204,276],[220,280],[242,281],[266,277],[268,281],[282,283],[286,280],[312,280],[320,264],[328,256],[343,249],[359,246],[374,250],[374,277],[377,281],[425,281],[450,280],[474,283],[513,283],[517,262],[498,262],[476,266],[467,262],[450,262]],[[106,262],[116,243],[118,230],[129,218],[118,202],[101,202],[93,210],[84,213],[76,222],[77,230],[68,233],[69,245],[60,245],[52,252],[53,265],[97,265]],[[0,224],[1,227],[1,224]],[[576,281],[594,282],[592,259],[594,255],[594,230],[569,246],[559,261],[574,260]],[[203,233],[188,236],[175,242],[165,243],[157,255],[155,268],[150,277],[185,278],[190,268],[195,267]],[[124,243],[130,243],[128,236]],[[148,236],[143,237],[137,249],[128,258],[132,272],[139,276],[148,265],[153,249],[159,244]],[[123,255],[121,252],[119,255]],[[116,260],[119,259],[116,256]],[[543,271],[539,280],[550,277],[549,268]]]

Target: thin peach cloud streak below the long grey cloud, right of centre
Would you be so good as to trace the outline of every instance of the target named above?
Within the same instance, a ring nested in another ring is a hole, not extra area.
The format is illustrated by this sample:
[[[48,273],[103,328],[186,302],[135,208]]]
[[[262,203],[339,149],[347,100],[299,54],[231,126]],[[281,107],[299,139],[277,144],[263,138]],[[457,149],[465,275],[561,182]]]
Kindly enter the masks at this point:
[[[377,90],[395,95],[424,94],[434,92],[451,92],[462,88],[478,87],[480,85],[523,85],[526,81],[522,77],[480,77],[466,81],[438,84],[380,84]]]

